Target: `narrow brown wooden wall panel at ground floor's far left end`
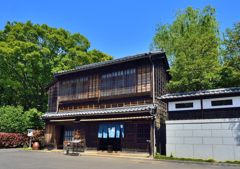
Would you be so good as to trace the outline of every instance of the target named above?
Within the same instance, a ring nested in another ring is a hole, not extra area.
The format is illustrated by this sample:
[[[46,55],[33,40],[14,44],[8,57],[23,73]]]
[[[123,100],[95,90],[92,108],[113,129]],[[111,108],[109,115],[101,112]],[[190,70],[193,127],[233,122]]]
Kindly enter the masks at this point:
[[[54,144],[54,132],[55,132],[55,125],[48,124],[45,125],[45,132],[44,132],[44,144],[45,145],[53,145]]]

